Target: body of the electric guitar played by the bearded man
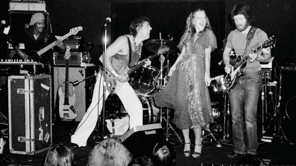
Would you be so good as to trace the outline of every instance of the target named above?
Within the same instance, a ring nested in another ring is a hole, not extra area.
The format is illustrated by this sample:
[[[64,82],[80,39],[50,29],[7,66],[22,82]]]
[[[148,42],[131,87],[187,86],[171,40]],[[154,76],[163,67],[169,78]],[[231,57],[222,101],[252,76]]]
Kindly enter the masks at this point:
[[[236,61],[230,60],[230,65],[235,66],[239,61],[241,61],[241,59],[242,57],[241,55],[239,55],[236,58]],[[238,78],[245,75],[244,73],[245,66],[246,66],[246,63],[242,64],[236,69],[232,68],[230,73],[225,76],[224,86],[226,89],[233,89],[236,86]]]

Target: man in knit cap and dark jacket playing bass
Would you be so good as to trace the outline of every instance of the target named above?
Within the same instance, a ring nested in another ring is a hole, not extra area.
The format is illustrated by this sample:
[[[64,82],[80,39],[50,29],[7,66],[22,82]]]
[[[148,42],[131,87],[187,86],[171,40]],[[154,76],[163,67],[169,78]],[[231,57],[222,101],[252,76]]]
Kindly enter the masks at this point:
[[[19,42],[21,41],[25,45],[23,51],[19,49]],[[18,36],[12,41],[12,45],[21,59],[28,59],[30,57],[30,51],[39,51],[54,41],[56,41],[56,46],[54,46],[55,51],[64,54],[66,52],[64,43],[57,40],[55,35],[45,29],[44,15],[42,13],[35,13],[31,17],[29,27],[23,30],[21,36]],[[39,62],[50,64],[51,57],[51,51],[47,51],[40,56]]]

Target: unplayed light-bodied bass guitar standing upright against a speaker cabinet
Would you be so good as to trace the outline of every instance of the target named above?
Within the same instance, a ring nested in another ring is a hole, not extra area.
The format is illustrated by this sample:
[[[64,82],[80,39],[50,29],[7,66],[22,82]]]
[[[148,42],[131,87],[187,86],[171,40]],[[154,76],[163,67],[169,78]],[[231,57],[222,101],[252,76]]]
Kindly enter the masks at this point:
[[[76,99],[76,94],[73,92],[72,96],[69,96],[69,57],[70,47],[66,47],[65,61],[66,61],[66,72],[65,72],[65,93],[63,92],[63,87],[60,86],[58,89],[59,94],[59,113],[62,119],[75,119],[77,117],[77,111],[74,108],[74,102]]]

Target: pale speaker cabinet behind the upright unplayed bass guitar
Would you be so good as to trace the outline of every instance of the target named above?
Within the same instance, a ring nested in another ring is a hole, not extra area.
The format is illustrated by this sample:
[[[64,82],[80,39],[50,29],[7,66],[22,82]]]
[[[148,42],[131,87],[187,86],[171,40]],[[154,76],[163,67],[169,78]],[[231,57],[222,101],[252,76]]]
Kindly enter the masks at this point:
[[[59,101],[56,100],[57,94],[58,94],[58,89],[60,86],[63,87],[63,92],[65,89],[65,70],[66,67],[54,67],[54,105],[59,103]],[[69,67],[69,82],[74,82],[74,81],[81,81],[87,77],[87,72],[84,67]],[[88,80],[86,80],[88,81]],[[90,86],[85,86],[86,83],[85,81],[81,81],[78,85],[73,86],[71,83],[69,83],[69,96],[73,95],[73,90],[74,93],[76,94],[76,99],[74,102],[74,107],[77,111],[77,117],[75,121],[81,121],[84,113],[87,110],[87,107],[90,103]],[[87,96],[87,97],[86,97]],[[55,109],[55,113],[58,113],[59,110]]]

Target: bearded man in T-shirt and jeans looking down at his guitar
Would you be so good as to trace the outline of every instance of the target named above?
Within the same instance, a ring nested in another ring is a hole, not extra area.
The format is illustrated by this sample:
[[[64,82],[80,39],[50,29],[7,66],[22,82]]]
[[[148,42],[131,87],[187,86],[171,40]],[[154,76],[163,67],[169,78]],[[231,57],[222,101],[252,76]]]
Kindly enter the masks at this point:
[[[237,77],[237,83],[230,90],[230,106],[232,115],[232,139],[234,144],[233,152],[228,154],[229,158],[236,158],[241,155],[256,155],[257,143],[257,103],[261,90],[261,62],[268,62],[271,58],[270,48],[263,48],[258,53],[255,49],[266,41],[267,34],[257,28],[253,38],[247,45],[247,36],[253,23],[250,7],[246,3],[234,6],[231,11],[236,29],[232,30],[227,37],[227,43],[223,52],[225,72],[231,73],[233,64],[230,63],[230,52],[232,49],[239,55],[249,56],[246,66],[241,69],[244,76]]]

